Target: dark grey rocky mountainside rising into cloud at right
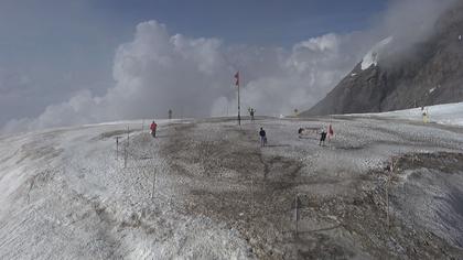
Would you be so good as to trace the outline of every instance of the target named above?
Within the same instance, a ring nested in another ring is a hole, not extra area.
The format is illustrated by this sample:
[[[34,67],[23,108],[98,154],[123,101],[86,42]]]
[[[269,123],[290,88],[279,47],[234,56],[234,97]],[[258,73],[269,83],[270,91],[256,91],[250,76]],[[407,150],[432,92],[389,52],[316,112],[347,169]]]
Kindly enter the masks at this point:
[[[434,34],[407,53],[360,63],[302,116],[380,112],[463,101],[463,3],[445,12]]]

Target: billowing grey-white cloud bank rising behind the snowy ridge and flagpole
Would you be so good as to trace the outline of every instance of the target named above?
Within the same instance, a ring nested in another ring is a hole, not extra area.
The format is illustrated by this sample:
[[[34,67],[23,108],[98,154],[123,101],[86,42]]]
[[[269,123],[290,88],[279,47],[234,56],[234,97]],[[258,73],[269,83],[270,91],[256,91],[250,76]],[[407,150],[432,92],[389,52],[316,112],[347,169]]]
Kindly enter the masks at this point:
[[[426,39],[439,17],[433,13],[435,7],[432,0],[396,1],[372,30],[325,34],[290,50],[227,45],[219,39],[171,34],[158,21],[143,22],[137,25],[133,41],[116,51],[116,84],[105,95],[84,89],[49,106],[37,118],[11,120],[3,132],[165,118],[169,109],[174,117],[235,115],[236,71],[241,75],[244,113],[254,107],[258,115],[289,115],[323,98],[381,37],[398,35],[403,46]],[[444,8],[439,7],[441,13]],[[427,23],[421,22],[422,15],[428,15]],[[417,24],[422,30],[411,30]]]

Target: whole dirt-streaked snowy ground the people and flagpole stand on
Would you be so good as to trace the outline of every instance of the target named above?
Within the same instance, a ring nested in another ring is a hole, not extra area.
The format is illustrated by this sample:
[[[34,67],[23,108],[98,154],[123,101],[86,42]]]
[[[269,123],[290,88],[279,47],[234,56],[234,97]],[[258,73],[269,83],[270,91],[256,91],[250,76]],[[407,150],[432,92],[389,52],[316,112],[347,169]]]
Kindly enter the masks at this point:
[[[316,133],[297,134],[329,123],[326,147]],[[238,127],[219,118],[162,121],[155,139],[133,121],[0,143],[1,259],[463,256],[456,127],[362,117]],[[391,159],[399,167],[389,177]]]

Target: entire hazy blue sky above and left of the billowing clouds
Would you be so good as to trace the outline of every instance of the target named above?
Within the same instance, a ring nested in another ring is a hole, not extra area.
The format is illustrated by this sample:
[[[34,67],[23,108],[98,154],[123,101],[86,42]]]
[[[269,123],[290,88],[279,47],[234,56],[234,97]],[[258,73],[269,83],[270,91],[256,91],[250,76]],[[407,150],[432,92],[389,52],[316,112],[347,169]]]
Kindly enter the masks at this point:
[[[155,20],[169,34],[216,37],[225,45],[291,50],[326,33],[363,31],[388,0],[2,0],[0,126],[33,118],[82,89],[112,87],[118,46],[137,24]],[[24,106],[28,104],[28,106]]]

